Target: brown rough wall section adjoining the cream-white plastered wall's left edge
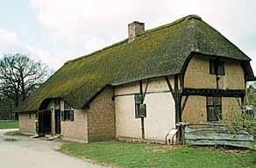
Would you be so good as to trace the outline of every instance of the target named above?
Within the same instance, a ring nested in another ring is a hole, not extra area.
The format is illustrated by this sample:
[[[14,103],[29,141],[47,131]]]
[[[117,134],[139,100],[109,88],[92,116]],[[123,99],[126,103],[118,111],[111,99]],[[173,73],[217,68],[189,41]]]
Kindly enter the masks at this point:
[[[86,109],[88,117],[88,141],[114,139],[116,136],[113,88],[105,88]]]

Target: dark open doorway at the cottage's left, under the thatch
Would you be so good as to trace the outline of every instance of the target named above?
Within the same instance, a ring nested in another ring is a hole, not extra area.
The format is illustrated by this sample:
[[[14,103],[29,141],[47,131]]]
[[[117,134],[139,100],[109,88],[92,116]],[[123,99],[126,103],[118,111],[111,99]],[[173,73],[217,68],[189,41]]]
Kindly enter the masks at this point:
[[[52,132],[52,113],[51,110],[39,111],[39,135],[51,134]]]

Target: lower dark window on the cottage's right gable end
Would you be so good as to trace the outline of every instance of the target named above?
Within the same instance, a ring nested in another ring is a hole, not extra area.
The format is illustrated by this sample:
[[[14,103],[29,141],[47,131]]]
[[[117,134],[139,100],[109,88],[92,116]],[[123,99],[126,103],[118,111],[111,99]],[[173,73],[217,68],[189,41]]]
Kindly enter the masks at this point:
[[[221,97],[207,97],[207,121],[218,121],[222,119]]]

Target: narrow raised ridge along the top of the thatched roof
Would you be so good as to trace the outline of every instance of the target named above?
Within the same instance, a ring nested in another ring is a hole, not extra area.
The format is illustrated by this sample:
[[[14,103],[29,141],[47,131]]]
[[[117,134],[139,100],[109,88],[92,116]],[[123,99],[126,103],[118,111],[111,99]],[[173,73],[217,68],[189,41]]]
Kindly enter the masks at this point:
[[[153,28],[153,29],[146,30],[146,31],[144,31],[143,33],[139,34],[138,37],[143,36],[143,35],[148,34],[148,33],[151,33],[151,32],[154,32],[154,31],[160,31],[160,30],[162,30],[162,29],[164,29],[164,28],[167,28],[167,27],[170,27],[170,26],[173,26],[173,25],[180,24],[181,22],[183,22],[183,21],[185,21],[185,20],[193,19],[193,18],[194,18],[194,19],[197,19],[197,20],[202,20],[201,17],[199,17],[199,16],[197,16],[197,15],[195,15],[195,14],[193,14],[193,15],[188,15],[188,16],[186,16],[186,17],[177,19],[177,20],[175,20],[174,22],[172,22],[172,23],[170,23],[170,24],[167,24],[167,25],[160,25],[160,26],[155,27],[155,28]],[[112,45],[105,46],[105,47],[103,47],[103,48],[100,49],[100,50],[96,50],[95,52],[90,52],[89,54],[83,55],[83,56],[78,57],[78,58],[76,58],[76,59],[70,59],[70,60],[68,60],[67,62],[65,62],[64,65],[66,65],[66,64],[68,64],[68,63],[71,63],[71,62],[75,62],[75,61],[80,60],[80,59],[87,58],[87,57],[92,56],[92,55],[94,55],[94,54],[96,54],[96,53],[98,53],[98,52],[103,52],[103,51],[105,51],[105,50],[107,50],[107,49],[110,49],[110,48],[116,46],[116,45],[123,44],[123,43],[126,42],[127,40],[128,40],[128,38],[124,38],[123,40],[121,40],[121,41],[119,41],[119,42],[117,42],[117,43],[114,43],[114,44],[112,44]]]

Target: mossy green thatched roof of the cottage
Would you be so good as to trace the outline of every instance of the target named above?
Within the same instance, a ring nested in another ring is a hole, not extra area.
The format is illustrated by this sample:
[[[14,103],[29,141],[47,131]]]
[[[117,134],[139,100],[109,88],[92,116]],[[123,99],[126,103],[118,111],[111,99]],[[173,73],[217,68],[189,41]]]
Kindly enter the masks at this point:
[[[188,55],[201,52],[250,61],[245,53],[195,15],[145,31],[78,59],[69,60],[18,111],[39,109],[47,98],[61,97],[81,109],[107,85],[181,73]]]

